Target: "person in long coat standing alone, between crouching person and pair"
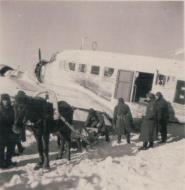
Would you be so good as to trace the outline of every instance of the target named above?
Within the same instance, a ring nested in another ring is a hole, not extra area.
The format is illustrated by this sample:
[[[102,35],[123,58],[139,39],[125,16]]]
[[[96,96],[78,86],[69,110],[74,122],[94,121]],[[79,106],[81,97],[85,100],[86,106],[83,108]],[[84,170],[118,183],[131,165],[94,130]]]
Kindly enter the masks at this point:
[[[118,105],[114,108],[113,122],[116,134],[118,135],[118,143],[121,142],[121,136],[126,135],[127,143],[130,144],[132,114],[123,98],[118,99]]]

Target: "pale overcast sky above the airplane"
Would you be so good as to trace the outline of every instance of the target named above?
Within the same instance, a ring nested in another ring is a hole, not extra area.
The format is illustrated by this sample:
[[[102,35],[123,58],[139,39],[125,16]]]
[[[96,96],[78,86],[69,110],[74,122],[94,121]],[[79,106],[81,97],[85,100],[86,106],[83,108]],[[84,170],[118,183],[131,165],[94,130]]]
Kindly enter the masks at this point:
[[[184,44],[183,2],[0,2],[0,64],[31,68],[64,49],[174,58]],[[177,56],[178,58],[178,56]]]

